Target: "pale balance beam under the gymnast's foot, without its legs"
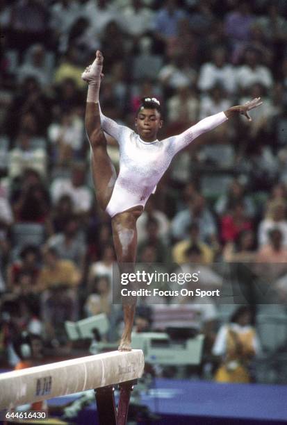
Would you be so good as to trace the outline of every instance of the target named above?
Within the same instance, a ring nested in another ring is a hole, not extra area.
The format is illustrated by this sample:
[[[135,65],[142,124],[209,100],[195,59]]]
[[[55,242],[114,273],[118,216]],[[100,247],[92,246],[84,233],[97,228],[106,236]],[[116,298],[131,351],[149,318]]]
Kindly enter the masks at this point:
[[[140,378],[142,350],[111,351],[0,374],[0,409]]]

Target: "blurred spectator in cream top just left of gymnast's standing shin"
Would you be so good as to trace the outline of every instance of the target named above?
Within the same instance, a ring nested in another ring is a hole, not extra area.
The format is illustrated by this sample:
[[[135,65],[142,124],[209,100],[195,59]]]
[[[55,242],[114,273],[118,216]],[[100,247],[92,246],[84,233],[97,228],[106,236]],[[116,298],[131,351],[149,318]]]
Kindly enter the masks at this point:
[[[112,308],[112,292],[110,290],[110,277],[99,276],[94,279],[93,287],[85,301],[85,313],[88,316],[99,315],[99,313],[110,314]]]

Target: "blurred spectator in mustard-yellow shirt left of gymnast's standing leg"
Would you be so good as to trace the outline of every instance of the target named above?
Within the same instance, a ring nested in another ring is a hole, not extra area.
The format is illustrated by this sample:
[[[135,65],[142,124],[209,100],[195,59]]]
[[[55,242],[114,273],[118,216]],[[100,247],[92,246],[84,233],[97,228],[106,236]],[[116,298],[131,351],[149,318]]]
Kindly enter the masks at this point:
[[[38,276],[38,290],[40,292],[65,285],[75,289],[81,280],[81,272],[69,260],[60,260],[55,248],[46,247],[43,252],[44,265]]]

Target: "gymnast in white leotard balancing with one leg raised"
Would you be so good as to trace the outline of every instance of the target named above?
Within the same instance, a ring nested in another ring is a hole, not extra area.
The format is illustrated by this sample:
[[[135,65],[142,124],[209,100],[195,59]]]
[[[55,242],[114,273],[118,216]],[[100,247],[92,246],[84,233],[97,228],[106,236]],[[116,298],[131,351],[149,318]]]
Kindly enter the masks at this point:
[[[101,52],[97,51],[95,61],[82,74],[83,80],[88,83],[85,129],[90,142],[97,201],[111,217],[117,263],[122,272],[126,263],[131,265],[136,262],[137,219],[176,153],[202,133],[211,131],[234,115],[245,115],[251,121],[248,111],[261,105],[262,101],[256,98],[244,105],[232,106],[202,119],[180,135],[158,140],[157,133],[163,126],[163,120],[160,102],[154,97],[142,99],[136,114],[136,131],[118,125],[101,113],[99,88],[103,60]],[[107,153],[104,131],[115,138],[120,146],[118,176]],[[118,349],[130,351],[136,302],[123,303],[123,309],[124,331]]]

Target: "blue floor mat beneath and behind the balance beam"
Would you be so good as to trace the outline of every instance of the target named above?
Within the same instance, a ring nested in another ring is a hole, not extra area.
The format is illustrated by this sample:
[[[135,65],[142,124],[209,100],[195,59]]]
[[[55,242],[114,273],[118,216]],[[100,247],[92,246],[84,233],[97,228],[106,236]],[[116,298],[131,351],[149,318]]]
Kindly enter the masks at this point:
[[[73,397],[65,397],[65,402]],[[63,403],[52,399],[49,404]],[[161,419],[154,425],[287,424],[287,386],[224,384],[158,378],[142,403]],[[97,424],[92,403],[79,413],[77,423]],[[148,423],[148,422],[146,422]],[[140,422],[145,424],[145,422]]]

